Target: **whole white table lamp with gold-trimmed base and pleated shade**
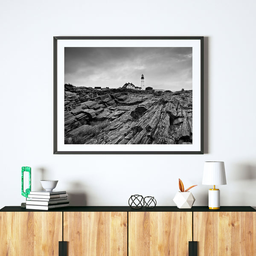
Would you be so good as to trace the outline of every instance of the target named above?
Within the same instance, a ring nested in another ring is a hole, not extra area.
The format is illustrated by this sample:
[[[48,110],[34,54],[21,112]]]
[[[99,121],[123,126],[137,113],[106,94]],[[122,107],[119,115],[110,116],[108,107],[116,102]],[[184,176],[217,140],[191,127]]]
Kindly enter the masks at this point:
[[[209,209],[220,209],[220,190],[215,185],[227,184],[224,162],[205,162],[202,184],[213,185],[209,189]]]

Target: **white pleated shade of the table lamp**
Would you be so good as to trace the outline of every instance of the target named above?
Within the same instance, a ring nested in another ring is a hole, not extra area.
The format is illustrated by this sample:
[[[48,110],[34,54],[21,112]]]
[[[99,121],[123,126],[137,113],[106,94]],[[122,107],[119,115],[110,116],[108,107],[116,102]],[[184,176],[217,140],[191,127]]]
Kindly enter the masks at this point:
[[[202,184],[226,185],[227,181],[224,162],[205,162]]]

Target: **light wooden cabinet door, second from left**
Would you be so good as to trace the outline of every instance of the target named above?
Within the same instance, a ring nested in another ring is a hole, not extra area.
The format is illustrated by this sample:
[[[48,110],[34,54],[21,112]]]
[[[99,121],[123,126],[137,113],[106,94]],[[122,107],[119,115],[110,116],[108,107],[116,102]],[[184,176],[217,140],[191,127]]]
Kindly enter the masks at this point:
[[[64,212],[68,256],[127,256],[127,212]]]

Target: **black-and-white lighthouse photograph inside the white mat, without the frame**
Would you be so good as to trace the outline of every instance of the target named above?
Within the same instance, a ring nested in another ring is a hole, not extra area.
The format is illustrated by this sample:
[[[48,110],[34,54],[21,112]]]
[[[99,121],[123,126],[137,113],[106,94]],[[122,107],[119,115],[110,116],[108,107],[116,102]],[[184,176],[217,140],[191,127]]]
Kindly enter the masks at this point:
[[[63,51],[65,146],[193,145],[192,46]]]

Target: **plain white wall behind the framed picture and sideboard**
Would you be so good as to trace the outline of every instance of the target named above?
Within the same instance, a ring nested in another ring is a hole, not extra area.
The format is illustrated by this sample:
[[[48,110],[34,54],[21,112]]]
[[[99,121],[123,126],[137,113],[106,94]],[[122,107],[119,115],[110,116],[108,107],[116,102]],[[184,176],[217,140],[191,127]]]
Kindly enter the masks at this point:
[[[178,178],[207,205],[204,161],[225,161],[221,205],[256,205],[253,0],[0,2],[0,208],[20,205],[21,166],[32,189],[57,189],[87,205],[128,205],[133,194],[174,205]],[[204,155],[53,155],[53,36],[205,36]]]

